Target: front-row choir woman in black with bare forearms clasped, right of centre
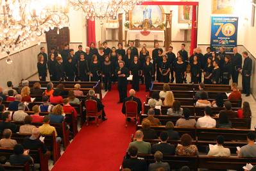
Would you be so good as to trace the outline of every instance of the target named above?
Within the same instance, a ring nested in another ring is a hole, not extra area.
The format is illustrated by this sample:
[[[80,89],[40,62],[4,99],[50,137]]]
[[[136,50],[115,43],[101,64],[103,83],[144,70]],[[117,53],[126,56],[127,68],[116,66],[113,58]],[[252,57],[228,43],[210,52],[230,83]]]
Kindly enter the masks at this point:
[[[162,83],[169,83],[170,81],[170,63],[167,61],[167,55],[162,57],[162,61],[160,61],[159,72],[161,74],[160,80]]]

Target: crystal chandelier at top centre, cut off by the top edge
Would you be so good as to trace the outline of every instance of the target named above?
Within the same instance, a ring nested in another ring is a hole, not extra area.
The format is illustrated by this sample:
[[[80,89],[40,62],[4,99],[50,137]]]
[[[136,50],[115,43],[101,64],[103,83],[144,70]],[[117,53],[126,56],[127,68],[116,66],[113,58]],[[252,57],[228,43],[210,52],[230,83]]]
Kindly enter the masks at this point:
[[[74,10],[83,10],[87,19],[107,19],[116,17],[117,13],[132,10],[135,4],[144,0],[71,0]]]

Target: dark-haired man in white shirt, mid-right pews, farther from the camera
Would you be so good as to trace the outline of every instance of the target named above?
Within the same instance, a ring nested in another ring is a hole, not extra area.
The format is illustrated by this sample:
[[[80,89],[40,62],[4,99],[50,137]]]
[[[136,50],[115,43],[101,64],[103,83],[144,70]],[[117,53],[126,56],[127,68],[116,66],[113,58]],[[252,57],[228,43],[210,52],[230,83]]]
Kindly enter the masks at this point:
[[[196,122],[196,127],[207,127],[212,128],[216,127],[216,120],[210,117],[211,109],[209,106],[205,106],[205,116],[198,118],[198,122]]]

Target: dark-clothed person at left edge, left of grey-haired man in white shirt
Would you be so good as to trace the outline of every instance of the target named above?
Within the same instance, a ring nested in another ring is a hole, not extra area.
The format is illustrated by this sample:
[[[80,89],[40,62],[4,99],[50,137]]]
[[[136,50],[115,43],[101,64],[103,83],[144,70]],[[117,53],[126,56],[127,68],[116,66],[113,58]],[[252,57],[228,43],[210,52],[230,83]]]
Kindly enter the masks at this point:
[[[4,129],[11,129],[12,133],[17,132],[17,126],[11,123],[11,113],[10,111],[4,111],[2,115],[3,122],[0,122],[0,133],[3,133]]]

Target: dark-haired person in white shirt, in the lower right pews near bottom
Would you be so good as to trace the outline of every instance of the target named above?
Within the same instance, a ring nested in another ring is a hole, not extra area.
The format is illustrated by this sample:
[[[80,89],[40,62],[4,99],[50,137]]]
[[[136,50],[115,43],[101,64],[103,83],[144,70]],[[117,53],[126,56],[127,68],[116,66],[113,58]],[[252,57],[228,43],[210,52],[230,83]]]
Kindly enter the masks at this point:
[[[210,145],[208,156],[213,157],[229,157],[230,149],[224,148],[224,137],[222,135],[217,136],[216,145]]]

